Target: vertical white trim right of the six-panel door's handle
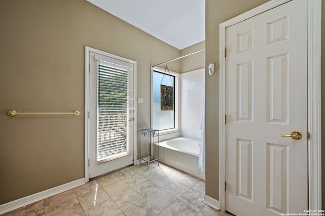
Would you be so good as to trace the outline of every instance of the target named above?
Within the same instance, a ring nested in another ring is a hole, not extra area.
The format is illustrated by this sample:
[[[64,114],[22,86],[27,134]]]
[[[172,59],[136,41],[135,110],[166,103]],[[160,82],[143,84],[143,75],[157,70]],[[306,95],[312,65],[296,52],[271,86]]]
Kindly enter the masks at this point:
[[[321,0],[308,1],[309,209],[321,206]]]

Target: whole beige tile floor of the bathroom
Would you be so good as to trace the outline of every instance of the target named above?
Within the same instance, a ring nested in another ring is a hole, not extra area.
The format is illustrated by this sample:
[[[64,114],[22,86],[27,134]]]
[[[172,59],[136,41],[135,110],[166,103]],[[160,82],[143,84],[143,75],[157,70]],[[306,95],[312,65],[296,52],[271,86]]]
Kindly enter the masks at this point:
[[[205,182],[164,164],[129,166],[3,215],[222,215],[202,202]]]

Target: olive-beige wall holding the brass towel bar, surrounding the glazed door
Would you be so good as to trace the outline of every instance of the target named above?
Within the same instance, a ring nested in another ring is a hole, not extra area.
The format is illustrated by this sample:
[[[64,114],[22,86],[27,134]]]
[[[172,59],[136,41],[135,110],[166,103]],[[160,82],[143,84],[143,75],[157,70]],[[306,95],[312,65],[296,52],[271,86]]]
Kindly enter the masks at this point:
[[[150,126],[150,65],[180,56],[85,0],[2,0],[0,29],[0,204],[84,177],[85,46],[137,61],[138,128]]]

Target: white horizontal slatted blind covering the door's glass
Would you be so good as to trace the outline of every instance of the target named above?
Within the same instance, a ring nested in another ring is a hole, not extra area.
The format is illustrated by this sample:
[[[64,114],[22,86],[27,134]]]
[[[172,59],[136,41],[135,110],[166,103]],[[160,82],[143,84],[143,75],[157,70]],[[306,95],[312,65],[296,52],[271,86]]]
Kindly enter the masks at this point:
[[[98,61],[97,161],[133,154],[134,93],[130,68]],[[131,119],[131,120],[130,120]],[[131,139],[132,140],[132,139]]]

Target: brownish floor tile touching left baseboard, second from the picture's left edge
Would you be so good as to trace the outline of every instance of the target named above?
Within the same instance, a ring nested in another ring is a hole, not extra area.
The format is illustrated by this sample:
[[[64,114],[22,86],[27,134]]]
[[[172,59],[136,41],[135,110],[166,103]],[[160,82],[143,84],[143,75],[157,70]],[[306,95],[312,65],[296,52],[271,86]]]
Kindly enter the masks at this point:
[[[75,200],[77,197],[73,190],[69,190],[54,196],[51,196],[49,198],[44,199],[44,208],[45,211],[50,208],[54,208],[56,206],[59,206],[63,203],[66,203],[71,200]]]

